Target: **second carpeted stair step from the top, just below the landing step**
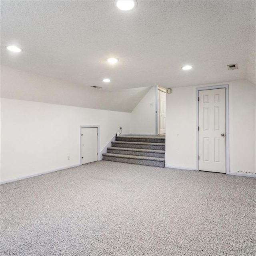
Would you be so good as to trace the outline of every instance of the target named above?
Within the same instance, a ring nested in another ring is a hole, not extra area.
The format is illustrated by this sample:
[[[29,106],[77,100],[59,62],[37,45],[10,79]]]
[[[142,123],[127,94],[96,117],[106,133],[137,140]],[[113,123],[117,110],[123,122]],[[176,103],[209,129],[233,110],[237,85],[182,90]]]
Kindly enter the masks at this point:
[[[165,150],[165,143],[113,141],[112,147]]]

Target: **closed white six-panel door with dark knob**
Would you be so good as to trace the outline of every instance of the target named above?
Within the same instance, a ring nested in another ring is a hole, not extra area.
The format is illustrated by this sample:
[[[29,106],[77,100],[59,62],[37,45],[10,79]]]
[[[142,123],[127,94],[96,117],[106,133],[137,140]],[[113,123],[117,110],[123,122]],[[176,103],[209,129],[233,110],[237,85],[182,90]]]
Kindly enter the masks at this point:
[[[199,170],[226,173],[224,88],[199,91]]]

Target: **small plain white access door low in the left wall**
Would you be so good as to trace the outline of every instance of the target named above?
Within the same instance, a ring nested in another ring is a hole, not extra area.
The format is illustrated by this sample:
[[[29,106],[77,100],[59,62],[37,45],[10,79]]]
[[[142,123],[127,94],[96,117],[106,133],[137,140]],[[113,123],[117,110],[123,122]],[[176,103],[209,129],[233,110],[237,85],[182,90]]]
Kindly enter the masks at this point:
[[[98,128],[82,128],[82,164],[98,160]]]

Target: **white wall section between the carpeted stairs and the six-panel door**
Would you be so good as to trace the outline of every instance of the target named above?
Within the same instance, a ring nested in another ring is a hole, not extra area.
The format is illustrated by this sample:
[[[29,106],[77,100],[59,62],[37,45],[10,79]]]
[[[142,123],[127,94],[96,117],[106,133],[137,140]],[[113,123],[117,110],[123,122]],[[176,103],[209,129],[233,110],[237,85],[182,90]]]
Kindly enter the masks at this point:
[[[167,167],[196,168],[196,89],[172,88],[166,94]]]

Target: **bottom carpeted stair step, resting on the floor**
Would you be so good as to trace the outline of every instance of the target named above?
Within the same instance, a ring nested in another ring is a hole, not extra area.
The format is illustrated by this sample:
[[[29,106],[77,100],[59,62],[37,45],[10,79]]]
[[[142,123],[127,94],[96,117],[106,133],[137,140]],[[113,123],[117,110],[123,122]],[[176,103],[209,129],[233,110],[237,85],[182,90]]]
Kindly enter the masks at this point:
[[[158,158],[158,157],[132,156],[132,155],[112,154],[112,153],[104,153],[102,154],[102,156],[103,156],[103,160],[130,163],[130,164],[142,164],[142,165],[157,166],[157,167],[164,167],[164,164],[165,164],[164,158]]]

